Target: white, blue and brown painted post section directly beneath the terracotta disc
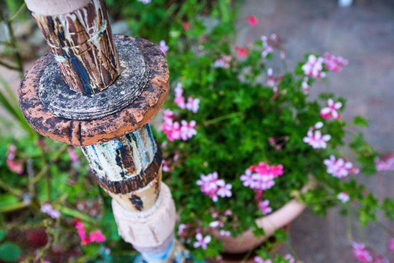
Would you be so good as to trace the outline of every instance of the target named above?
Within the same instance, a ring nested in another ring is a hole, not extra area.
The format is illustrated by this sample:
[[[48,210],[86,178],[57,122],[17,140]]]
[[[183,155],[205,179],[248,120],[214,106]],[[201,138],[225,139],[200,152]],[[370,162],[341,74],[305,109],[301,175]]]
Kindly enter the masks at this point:
[[[150,209],[158,199],[162,154],[149,124],[106,143],[81,147],[100,186],[124,209]]]

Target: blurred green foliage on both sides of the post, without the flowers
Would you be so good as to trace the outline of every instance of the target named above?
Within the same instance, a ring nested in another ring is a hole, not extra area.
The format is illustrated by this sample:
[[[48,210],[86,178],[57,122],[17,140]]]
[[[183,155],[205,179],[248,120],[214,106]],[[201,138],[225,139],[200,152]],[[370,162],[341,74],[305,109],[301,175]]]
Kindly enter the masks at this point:
[[[324,92],[312,100],[301,89],[305,77],[301,67],[307,56],[314,53],[306,54],[293,71],[285,71],[280,76],[276,93],[266,85],[266,64],[276,53],[262,58],[262,41],[257,40],[247,46],[248,56],[236,58],[237,2],[154,0],[143,4],[107,0],[106,3],[114,19],[124,19],[130,24],[133,36],[156,43],[162,39],[167,42],[171,85],[181,82],[186,98],[193,96],[201,100],[196,114],[179,109],[173,102],[173,92],[164,105],[175,111],[177,120],[196,120],[197,135],[188,141],[170,142],[164,133],[156,131],[158,141],[167,141],[163,156],[172,170],[163,174],[163,180],[171,187],[179,223],[188,225],[186,240],[190,242],[185,242],[185,246],[195,259],[215,257],[223,251],[222,242],[212,235],[209,226],[212,221],[220,219],[223,225],[217,230],[230,231],[234,237],[249,229],[257,237],[265,234],[255,222],[263,216],[254,198],[256,192],[240,181],[245,169],[260,161],[284,166],[284,175],[275,178],[275,186],[263,193],[274,211],[296,199],[321,216],[336,205],[340,206],[342,215],[354,210],[362,225],[376,222],[379,209],[394,220],[392,199],[379,201],[354,178],[340,179],[327,173],[323,160],[331,154],[344,157],[346,152],[348,158],[345,159],[355,158],[354,165],[361,168],[362,174],[374,174],[378,154],[362,133],[351,131],[354,126],[368,126],[369,121],[364,117],[355,116],[352,122],[346,122],[320,116],[320,109],[329,98],[342,102],[339,113],[343,114],[346,99]],[[7,0],[11,13],[17,12],[19,4]],[[188,30],[184,22],[188,23]],[[232,55],[229,68],[213,66],[222,54]],[[324,71],[328,73],[326,68]],[[274,75],[279,77],[277,72]],[[313,88],[316,81],[322,80],[310,77],[307,83]],[[2,79],[0,83],[2,108],[25,130],[22,137],[4,133],[0,136],[0,226],[7,229],[7,232],[0,231],[0,259],[13,261],[22,255],[26,260],[45,260],[58,249],[63,254],[69,253],[67,260],[76,262],[132,261],[137,252],[119,237],[110,198],[92,180],[81,152],[75,149],[80,161],[71,162],[67,147],[39,137],[24,121],[7,83]],[[324,124],[320,129],[322,133],[331,135],[325,149],[314,149],[303,142],[308,129],[318,121]],[[349,144],[346,135],[353,136]],[[275,145],[270,143],[271,138]],[[17,148],[15,160],[23,163],[22,174],[11,171],[7,165],[9,145]],[[353,153],[344,150],[348,147]],[[178,156],[176,161],[175,155]],[[231,198],[213,202],[201,192],[196,180],[201,174],[213,171],[232,184]],[[303,189],[307,185],[309,189]],[[348,193],[355,205],[342,204],[337,198],[340,192]],[[46,202],[61,212],[60,218],[52,219],[40,212]],[[83,209],[78,209],[82,204]],[[229,209],[231,214],[225,214]],[[74,227],[77,218],[87,231],[100,229],[106,241],[81,245]],[[12,222],[18,224],[10,224]],[[33,250],[25,240],[8,240],[9,235],[17,236],[16,233],[40,227],[45,228],[48,242],[39,249]],[[212,235],[206,250],[193,248],[196,230],[204,236]],[[275,247],[286,239],[286,231],[278,229],[257,254],[273,262],[286,262],[275,252]],[[11,253],[5,255],[4,251]]]

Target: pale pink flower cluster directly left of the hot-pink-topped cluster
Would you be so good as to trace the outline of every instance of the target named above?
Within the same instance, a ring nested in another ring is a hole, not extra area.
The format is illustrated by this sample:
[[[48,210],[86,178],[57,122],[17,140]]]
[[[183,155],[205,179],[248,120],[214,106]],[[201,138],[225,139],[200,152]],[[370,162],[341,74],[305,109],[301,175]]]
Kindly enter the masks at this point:
[[[226,184],[223,179],[218,179],[217,172],[209,173],[208,175],[202,174],[196,183],[201,186],[201,192],[211,197],[214,202],[218,200],[218,195],[222,198],[231,197],[232,195],[232,185]]]

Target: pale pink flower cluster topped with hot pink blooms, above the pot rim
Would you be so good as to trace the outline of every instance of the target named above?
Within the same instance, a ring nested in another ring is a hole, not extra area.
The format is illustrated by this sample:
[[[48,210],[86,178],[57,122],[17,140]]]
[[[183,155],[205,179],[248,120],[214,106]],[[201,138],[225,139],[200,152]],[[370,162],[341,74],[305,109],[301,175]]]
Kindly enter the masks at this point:
[[[251,165],[241,175],[240,180],[243,186],[249,186],[255,190],[267,190],[275,185],[274,178],[283,174],[283,165],[268,165],[259,162],[258,165]]]

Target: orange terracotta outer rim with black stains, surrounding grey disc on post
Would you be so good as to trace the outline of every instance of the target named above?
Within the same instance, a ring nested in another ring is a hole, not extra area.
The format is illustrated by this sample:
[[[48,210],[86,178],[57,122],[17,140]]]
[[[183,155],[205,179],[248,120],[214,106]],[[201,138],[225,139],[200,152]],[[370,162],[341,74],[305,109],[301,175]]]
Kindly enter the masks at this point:
[[[142,52],[150,75],[141,95],[130,105],[95,120],[71,120],[50,112],[39,100],[38,86],[45,67],[54,60],[47,53],[26,71],[18,89],[19,106],[33,129],[42,135],[74,146],[87,146],[110,141],[147,124],[163,105],[169,92],[167,59],[160,48],[142,38],[128,38]]]

